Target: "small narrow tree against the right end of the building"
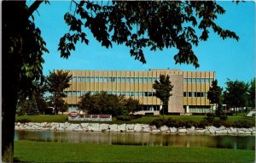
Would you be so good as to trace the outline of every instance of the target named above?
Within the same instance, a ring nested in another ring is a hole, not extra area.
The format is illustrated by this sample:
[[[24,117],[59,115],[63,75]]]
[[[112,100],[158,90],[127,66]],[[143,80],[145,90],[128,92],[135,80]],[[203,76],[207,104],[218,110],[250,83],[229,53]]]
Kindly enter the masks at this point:
[[[217,108],[222,106],[222,88],[218,86],[218,81],[212,81],[212,86],[210,87],[207,98],[210,100],[210,104],[217,104]]]

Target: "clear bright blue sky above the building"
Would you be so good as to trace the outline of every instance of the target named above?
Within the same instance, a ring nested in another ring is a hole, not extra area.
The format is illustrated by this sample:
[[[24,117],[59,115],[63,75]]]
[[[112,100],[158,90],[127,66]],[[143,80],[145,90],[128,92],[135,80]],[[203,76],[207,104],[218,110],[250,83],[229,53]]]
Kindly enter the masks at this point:
[[[113,48],[104,48],[101,43],[85,30],[90,40],[89,45],[77,43],[76,50],[72,51],[68,59],[62,59],[58,49],[60,38],[69,31],[64,21],[64,14],[72,12],[74,7],[69,1],[50,1],[42,3],[38,12],[33,15],[35,24],[41,30],[41,36],[47,43],[49,53],[44,53],[44,75],[52,70],[149,70],[179,69],[215,71],[218,84],[225,87],[229,78],[231,81],[250,82],[255,76],[255,3],[232,3],[231,1],[218,1],[225,14],[218,15],[216,23],[224,29],[235,31],[240,37],[225,39],[210,32],[207,42],[199,42],[194,52],[199,59],[200,68],[193,65],[175,65],[173,56],[176,48],[151,52],[143,49],[147,64],[142,64],[130,55],[130,49],[125,45],[113,44]]]

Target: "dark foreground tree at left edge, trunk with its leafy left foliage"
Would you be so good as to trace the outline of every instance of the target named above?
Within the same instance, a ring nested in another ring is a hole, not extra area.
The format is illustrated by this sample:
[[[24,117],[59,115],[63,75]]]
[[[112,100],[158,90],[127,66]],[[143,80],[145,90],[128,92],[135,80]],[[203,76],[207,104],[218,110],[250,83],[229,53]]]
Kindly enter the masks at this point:
[[[38,4],[38,1],[36,1]],[[42,2],[40,2],[42,3]],[[33,5],[35,6],[35,5]],[[35,6],[36,7],[36,6]],[[34,89],[33,81],[43,77],[46,43],[30,19],[36,8],[25,1],[2,2],[2,160],[13,162],[15,112],[18,97]]]

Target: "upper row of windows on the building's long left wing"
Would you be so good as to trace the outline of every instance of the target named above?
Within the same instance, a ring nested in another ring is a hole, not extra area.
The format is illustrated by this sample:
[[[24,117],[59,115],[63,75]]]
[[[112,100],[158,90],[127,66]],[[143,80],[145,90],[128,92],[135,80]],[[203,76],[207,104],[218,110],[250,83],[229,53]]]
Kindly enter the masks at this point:
[[[157,77],[97,77],[97,76],[73,76],[72,82],[151,82]]]

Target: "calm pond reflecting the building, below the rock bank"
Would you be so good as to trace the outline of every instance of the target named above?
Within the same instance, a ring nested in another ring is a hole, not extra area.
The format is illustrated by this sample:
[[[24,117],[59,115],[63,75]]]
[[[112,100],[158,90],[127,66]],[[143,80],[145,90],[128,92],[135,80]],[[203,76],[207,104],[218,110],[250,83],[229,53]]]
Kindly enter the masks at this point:
[[[15,131],[15,140],[255,150],[255,136],[177,135],[148,132]]]

